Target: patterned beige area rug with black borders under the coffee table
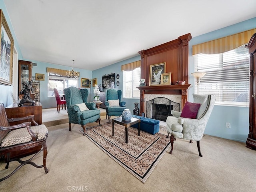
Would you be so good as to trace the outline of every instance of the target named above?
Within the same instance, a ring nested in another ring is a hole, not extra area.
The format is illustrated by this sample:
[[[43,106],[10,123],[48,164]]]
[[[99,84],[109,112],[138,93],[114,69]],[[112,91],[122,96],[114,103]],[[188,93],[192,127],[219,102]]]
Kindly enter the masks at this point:
[[[83,133],[83,130],[81,130]],[[124,126],[115,124],[115,135],[112,136],[112,123],[102,124],[86,129],[86,136],[118,164],[128,170],[143,183],[150,176],[170,146],[166,135],[155,135],[129,127],[129,141],[125,143]]]

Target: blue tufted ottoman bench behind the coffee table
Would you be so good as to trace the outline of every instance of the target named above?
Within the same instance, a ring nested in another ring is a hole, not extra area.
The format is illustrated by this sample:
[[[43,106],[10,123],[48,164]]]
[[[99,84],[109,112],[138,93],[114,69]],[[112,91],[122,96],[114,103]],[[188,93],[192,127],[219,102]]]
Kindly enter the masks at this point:
[[[132,115],[132,117],[140,119],[140,130],[151,133],[153,135],[155,133],[159,132],[159,121],[158,120],[147,118],[147,117],[142,117],[142,116],[138,116],[138,115]],[[138,123],[132,125],[132,127],[138,129]]]

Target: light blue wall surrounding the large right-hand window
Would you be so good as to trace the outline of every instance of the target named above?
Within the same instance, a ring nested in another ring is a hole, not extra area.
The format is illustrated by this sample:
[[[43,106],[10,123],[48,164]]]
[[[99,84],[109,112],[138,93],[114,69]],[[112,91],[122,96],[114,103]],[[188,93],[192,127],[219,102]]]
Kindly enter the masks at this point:
[[[246,30],[256,28],[256,18],[234,24],[207,34],[193,37],[189,42],[190,58],[189,58],[189,74],[194,72],[194,56],[192,56],[192,45],[200,44],[217,38],[236,34]],[[194,78],[190,75],[189,83],[194,86]],[[194,87],[189,90],[189,101],[193,101],[192,93]],[[231,123],[231,128],[226,128],[226,122]],[[205,134],[218,136],[226,139],[245,142],[249,133],[249,108],[215,105],[206,126]]]

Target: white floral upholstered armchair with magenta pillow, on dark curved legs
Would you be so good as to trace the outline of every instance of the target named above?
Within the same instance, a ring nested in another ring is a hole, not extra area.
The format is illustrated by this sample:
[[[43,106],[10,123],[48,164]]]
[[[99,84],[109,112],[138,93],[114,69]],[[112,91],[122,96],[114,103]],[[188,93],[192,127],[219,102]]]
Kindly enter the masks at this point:
[[[215,103],[214,95],[197,95],[193,94],[194,103],[186,102],[182,112],[171,111],[173,116],[168,116],[166,119],[166,129],[173,150],[173,142],[176,138],[195,140],[199,156],[202,157],[200,152],[200,140],[204,135],[206,124],[212,112]]]

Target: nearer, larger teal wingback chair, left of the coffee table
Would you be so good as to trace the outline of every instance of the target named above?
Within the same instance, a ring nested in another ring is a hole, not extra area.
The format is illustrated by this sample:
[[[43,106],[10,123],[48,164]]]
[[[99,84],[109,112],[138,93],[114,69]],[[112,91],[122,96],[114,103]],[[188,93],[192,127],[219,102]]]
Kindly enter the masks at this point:
[[[99,122],[100,124],[100,110],[96,108],[94,102],[88,103],[88,90],[78,89],[76,87],[69,87],[64,89],[66,104],[68,108],[69,131],[71,131],[71,124],[79,124],[84,129],[86,124],[92,122]],[[85,103],[88,110],[81,111],[78,104]]]

